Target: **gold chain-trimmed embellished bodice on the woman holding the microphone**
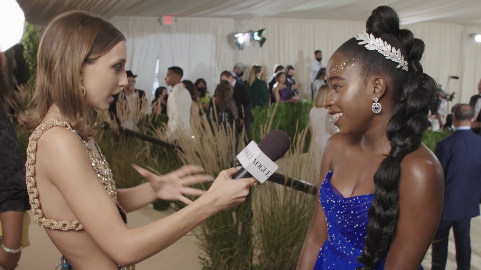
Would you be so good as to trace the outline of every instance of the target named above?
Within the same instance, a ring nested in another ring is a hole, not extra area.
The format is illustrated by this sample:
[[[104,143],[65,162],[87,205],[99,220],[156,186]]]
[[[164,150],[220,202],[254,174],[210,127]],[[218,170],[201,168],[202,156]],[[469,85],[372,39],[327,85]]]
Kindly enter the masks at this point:
[[[27,160],[25,163],[25,181],[27,185],[28,196],[30,199],[30,205],[32,206],[33,221],[35,222],[35,224],[52,230],[83,230],[82,224],[80,224],[78,221],[55,221],[46,218],[43,215],[42,209],[40,207],[40,202],[38,201],[38,191],[35,183],[35,157],[37,154],[37,142],[40,136],[46,130],[55,126],[66,128],[78,136],[85,150],[89,154],[90,162],[95,174],[99,178],[101,184],[105,187],[105,191],[109,194],[112,200],[114,200],[117,208],[119,209],[120,215],[122,216],[122,219],[124,220],[124,222],[127,223],[125,211],[122,209],[122,207],[117,201],[117,191],[112,175],[112,170],[109,168],[109,164],[105,160],[105,157],[102,155],[100,147],[95,144],[95,147],[97,147],[97,150],[100,154],[98,155],[92,149],[92,147],[90,147],[89,144],[84,139],[82,139],[82,137],[78,135],[75,130],[70,127],[68,123],[52,119],[44,124],[39,125],[28,139]]]

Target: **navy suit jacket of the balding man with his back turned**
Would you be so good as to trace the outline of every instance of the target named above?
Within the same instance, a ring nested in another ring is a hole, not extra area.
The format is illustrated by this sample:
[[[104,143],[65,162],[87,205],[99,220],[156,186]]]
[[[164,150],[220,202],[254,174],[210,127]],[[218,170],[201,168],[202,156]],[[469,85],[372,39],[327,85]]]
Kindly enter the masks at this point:
[[[481,136],[458,130],[436,145],[434,154],[444,171],[443,221],[480,215]]]

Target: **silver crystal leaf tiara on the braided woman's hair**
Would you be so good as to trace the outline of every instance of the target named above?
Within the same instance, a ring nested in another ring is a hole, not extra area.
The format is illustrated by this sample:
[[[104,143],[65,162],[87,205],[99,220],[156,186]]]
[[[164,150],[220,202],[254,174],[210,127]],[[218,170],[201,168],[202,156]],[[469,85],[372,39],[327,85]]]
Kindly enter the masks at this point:
[[[391,45],[383,41],[380,37],[376,38],[372,34],[367,34],[366,31],[362,32],[362,34],[357,34],[354,38],[362,40],[357,44],[366,44],[364,46],[366,49],[377,50],[380,54],[384,55],[387,60],[398,63],[399,65],[396,68],[402,67],[403,70],[408,71],[407,61],[405,61],[404,56],[401,55],[400,49],[394,49],[394,47],[391,47]]]

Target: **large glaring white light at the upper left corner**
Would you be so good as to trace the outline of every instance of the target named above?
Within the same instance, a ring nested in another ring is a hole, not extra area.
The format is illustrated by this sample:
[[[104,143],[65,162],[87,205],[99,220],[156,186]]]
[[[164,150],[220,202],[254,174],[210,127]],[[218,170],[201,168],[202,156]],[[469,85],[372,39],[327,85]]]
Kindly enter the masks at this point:
[[[17,44],[24,33],[25,15],[16,0],[3,0],[0,9],[0,50]]]

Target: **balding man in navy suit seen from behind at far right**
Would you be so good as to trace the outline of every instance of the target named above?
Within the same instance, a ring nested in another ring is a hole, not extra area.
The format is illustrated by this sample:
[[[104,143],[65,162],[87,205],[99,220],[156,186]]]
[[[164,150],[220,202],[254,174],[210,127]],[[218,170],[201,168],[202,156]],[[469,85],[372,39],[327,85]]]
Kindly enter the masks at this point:
[[[454,229],[458,270],[471,264],[471,218],[480,215],[481,137],[471,131],[473,109],[457,105],[453,113],[455,132],[440,141],[434,151],[444,171],[444,208],[432,244],[432,270],[444,270],[449,230]]]

